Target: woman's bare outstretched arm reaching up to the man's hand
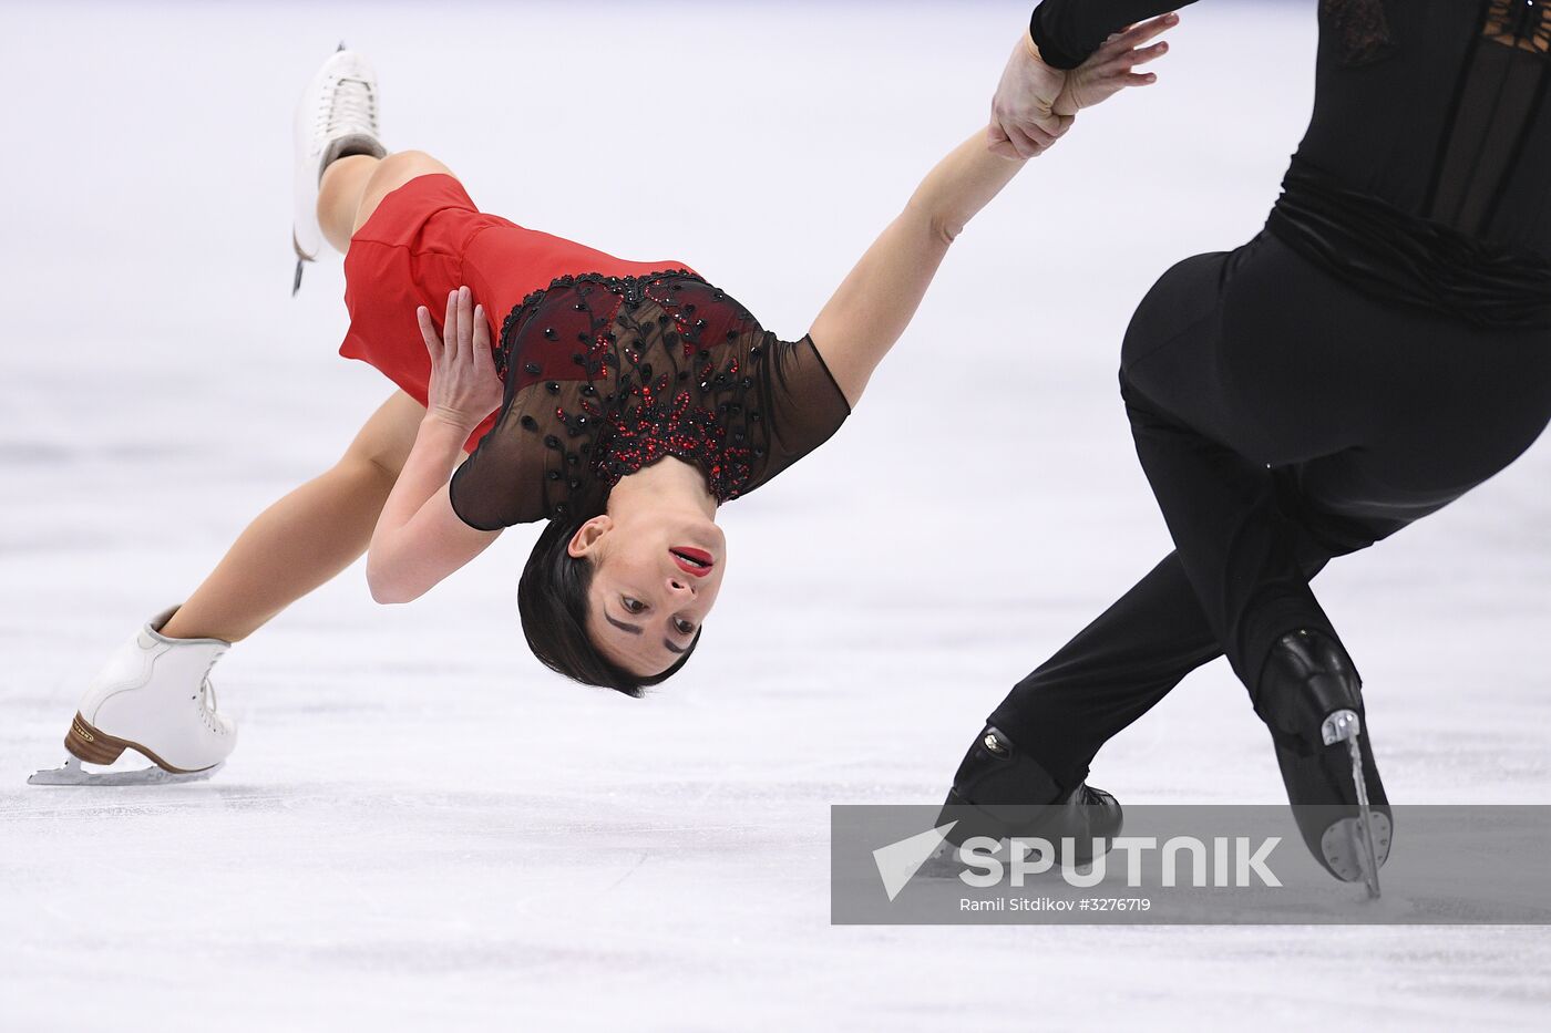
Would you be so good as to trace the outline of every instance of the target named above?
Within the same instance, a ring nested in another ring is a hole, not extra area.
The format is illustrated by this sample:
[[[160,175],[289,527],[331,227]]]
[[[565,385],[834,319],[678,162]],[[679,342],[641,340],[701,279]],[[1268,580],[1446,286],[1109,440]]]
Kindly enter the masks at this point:
[[[1137,25],[1106,42],[1078,68],[1061,73],[1069,87],[1079,88],[1081,107],[1092,107],[1128,85],[1151,82],[1151,76],[1132,68],[1168,48],[1145,43],[1174,22],[1163,17]],[[1064,132],[1070,123],[1070,116],[1061,116],[1056,130]],[[853,408],[873,369],[915,316],[954,237],[1002,192],[1024,161],[993,154],[983,130],[962,143],[926,175],[904,211],[867,248],[813,321],[814,347]]]

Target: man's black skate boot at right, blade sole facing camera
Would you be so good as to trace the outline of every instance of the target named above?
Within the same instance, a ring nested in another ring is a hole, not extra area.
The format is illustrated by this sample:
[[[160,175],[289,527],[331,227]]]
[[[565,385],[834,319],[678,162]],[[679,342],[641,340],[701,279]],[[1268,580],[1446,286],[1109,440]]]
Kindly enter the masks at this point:
[[[1362,679],[1340,642],[1294,631],[1272,648],[1255,712],[1270,729],[1298,831],[1325,870],[1379,895],[1394,819],[1373,760]]]

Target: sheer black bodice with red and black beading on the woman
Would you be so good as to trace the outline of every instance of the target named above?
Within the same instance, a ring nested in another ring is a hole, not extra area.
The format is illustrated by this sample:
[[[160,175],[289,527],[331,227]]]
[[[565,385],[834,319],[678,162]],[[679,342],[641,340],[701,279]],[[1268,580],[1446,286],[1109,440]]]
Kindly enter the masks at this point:
[[[695,464],[718,503],[748,495],[850,414],[810,338],[788,343],[693,273],[565,276],[501,329],[499,419],[453,475],[484,530],[602,510],[664,456]]]

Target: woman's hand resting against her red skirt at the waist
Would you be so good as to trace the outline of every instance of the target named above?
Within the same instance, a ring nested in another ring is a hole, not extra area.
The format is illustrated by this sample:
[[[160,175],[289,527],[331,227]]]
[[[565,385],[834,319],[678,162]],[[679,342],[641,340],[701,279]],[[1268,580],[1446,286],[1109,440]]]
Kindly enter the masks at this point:
[[[467,287],[447,295],[447,316],[442,332],[436,332],[425,306],[414,310],[431,354],[431,385],[427,391],[425,414],[440,419],[465,433],[478,427],[501,405],[504,388],[495,375],[490,355],[490,327],[484,307],[476,306]]]

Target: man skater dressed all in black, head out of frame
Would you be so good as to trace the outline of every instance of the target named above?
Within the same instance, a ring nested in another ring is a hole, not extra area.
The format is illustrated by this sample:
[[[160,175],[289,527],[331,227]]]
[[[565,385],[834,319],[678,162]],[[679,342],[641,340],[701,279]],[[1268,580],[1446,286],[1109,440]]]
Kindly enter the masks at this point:
[[[1176,3],[1045,0],[1031,33],[1059,82]],[[1294,808],[1307,847],[1377,895],[1391,816],[1309,579],[1551,419],[1548,88],[1551,0],[1320,5],[1314,116],[1266,231],[1171,268],[1126,332],[1121,397],[1177,549],[991,713],[949,793],[974,808],[955,836],[1114,831],[1114,797],[1083,785],[1093,755],[1227,653],[1289,799],[1328,805]],[[1002,810],[1053,802],[1097,807]]]

